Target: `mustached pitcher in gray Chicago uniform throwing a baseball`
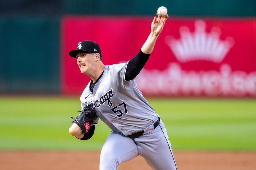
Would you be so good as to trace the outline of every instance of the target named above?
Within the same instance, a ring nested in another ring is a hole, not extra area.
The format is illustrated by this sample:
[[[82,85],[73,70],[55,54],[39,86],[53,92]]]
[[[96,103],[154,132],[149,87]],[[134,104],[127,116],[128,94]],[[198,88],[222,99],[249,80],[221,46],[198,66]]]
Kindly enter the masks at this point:
[[[120,163],[138,155],[154,170],[177,170],[164,123],[134,80],[148,61],[167,18],[168,14],[154,17],[148,39],[127,63],[104,65],[100,47],[93,41],[81,41],[69,52],[76,57],[81,73],[92,79],[80,97],[82,110],[72,118],[69,133],[81,140],[90,139],[99,118],[112,129],[101,150],[100,170],[117,170]]]

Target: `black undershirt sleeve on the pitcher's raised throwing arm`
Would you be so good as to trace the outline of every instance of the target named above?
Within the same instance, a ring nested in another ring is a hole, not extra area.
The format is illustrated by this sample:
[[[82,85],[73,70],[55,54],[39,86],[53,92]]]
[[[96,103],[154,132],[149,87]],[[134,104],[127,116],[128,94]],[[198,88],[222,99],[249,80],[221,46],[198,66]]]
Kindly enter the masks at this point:
[[[149,55],[150,54],[145,54],[140,50],[140,52],[127,63],[125,72],[126,81],[133,80],[140,73],[140,70],[148,61]]]

